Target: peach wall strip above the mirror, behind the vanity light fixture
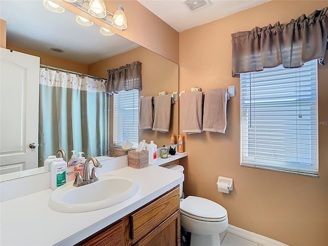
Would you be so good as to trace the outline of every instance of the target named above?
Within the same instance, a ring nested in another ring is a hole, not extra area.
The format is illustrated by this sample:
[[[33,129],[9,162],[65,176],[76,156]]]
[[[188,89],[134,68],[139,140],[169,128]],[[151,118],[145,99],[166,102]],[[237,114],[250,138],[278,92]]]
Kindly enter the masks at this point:
[[[118,5],[123,5],[128,21],[128,28],[124,31],[111,27],[64,0],[56,1],[56,3],[67,10],[89,18],[99,26],[106,27],[132,42],[172,60],[174,63],[179,63],[179,33],[136,0],[105,0],[107,10],[112,13],[115,12]]]

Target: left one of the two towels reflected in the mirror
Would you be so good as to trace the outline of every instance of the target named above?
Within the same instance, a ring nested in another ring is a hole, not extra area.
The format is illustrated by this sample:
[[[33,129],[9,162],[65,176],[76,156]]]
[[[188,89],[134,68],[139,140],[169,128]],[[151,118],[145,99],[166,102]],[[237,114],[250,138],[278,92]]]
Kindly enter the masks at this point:
[[[139,129],[152,129],[154,122],[153,97],[139,98]]]

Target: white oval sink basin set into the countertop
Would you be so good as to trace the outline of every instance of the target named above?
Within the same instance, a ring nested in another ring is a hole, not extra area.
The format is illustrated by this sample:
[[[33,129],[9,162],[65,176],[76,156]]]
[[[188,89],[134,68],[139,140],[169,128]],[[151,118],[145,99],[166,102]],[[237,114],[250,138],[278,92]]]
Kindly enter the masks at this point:
[[[125,177],[99,177],[98,181],[81,187],[74,187],[72,181],[54,190],[48,206],[63,213],[90,212],[123,202],[138,189],[136,182]]]

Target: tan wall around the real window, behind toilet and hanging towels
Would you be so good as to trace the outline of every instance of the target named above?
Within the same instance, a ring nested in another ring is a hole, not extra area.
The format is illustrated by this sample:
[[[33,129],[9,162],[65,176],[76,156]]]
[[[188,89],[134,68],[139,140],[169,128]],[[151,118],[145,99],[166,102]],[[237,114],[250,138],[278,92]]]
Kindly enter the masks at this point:
[[[277,21],[288,23],[327,1],[271,1],[180,33],[179,90],[236,86],[225,134],[185,138],[186,195],[206,197],[228,210],[229,223],[290,245],[328,245],[328,126],[319,125],[319,178],[240,167],[239,79],[231,77],[231,34]],[[326,60],[328,60],[326,52]],[[327,62],[326,62],[327,64]],[[328,121],[328,65],[319,66],[319,121]],[[218,193],[218,176],[234,179]]]

